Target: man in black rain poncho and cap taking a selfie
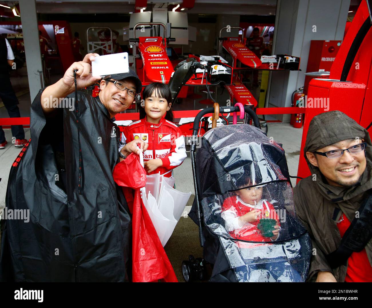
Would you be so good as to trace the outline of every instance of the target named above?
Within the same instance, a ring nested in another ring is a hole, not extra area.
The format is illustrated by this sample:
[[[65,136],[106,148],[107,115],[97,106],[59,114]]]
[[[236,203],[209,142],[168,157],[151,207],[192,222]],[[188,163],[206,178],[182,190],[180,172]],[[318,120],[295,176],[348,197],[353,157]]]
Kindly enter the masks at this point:
[[[120,137],[113,121],[140,93],[141,81],[129,71],[106,76],[99,97],[74,93],[74,70],[77,89],[100,79],[90,73],[95,56],[74,62],[32,103],[31,142],[13,163],[6,194],[7,212],[29,211],[29,222],[1,220],[1,281],[130,279],[131,215],[112,177]],[[139,154],[137,144],[147,148],[137,140],[122,153]]]

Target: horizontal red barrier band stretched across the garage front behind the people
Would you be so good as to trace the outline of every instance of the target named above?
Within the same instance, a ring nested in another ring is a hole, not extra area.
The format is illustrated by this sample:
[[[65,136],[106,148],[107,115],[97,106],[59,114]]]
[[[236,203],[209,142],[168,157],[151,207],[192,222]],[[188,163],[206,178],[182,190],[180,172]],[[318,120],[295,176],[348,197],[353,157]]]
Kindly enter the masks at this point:
[[[181,110],[174,111],[174,118],[195,118],[200,110]],[[237,112],[240,114],[240,112]],[[257,115],[286,115],[292,113],[305,113],[304,108],[299,107],[274,107],[274,108],[257,108]],[[209,113],[205,116],[212,116]],[[118,113],[115,116],[116,120],[138,120],[140,119],[140,113]],[[0,118],[0,125],[30,125],[30,118]]]

